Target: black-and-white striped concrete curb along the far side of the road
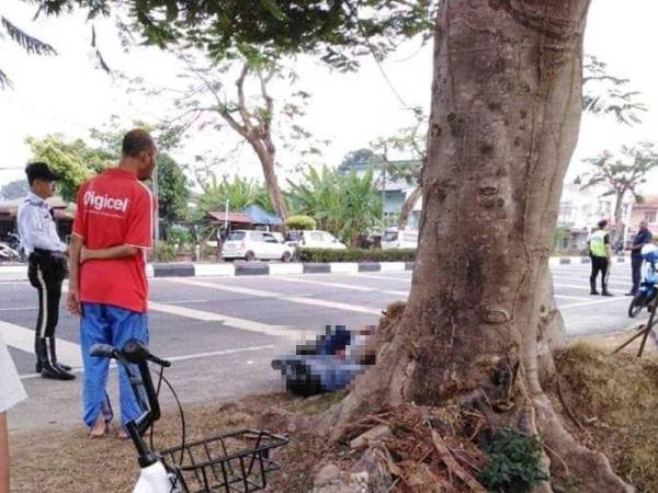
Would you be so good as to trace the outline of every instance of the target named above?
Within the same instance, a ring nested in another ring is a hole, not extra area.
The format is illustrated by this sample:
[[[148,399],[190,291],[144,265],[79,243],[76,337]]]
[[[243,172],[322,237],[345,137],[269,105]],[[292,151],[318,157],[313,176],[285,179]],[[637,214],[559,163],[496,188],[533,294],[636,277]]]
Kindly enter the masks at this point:
[[[552,267],[561,265],[589,264],[588,256],[552,256]],[[631,257],[616,256],[615,263],[631,262]],[[405,272],[413,271],[413,262],[304,262],[266,263],[234,262],[226,264],[196,263],[154,263],[146,266],[148,277],[234,277],[234,276],[277,276],[286,274],[358,274],[360,272]],[[27,280],[26,265],[0,265],[0,282]]]

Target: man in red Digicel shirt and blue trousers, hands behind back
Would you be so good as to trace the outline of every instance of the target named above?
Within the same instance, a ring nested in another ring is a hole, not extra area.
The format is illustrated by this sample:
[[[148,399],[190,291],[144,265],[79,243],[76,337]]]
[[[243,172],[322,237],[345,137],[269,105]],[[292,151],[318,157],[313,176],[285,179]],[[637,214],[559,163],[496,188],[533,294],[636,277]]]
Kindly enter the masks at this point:
[[[78,190],[68,306],[81,314],[83,421],[92,437],[105,435],[112,408],[105,392],[109,359],[90,356],[90,347],[122,346],[129,339],[148,342],[146,251],[152,245],[154,198],[141,181],[151,176],[156,153],[147,131],[131,130],[118,165]],[[120,402],[124,425],[141,414],[123,367]]]

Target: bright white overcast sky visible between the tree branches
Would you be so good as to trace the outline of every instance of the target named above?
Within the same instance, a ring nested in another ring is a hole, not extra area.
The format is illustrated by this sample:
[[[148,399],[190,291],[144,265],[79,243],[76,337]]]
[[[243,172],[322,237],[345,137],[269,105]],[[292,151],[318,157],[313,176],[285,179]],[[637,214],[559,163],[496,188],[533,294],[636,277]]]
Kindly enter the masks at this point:
[[[134,121],[157,122],[172,117],[169,96],[148,96],[127,91],[121,78],[97,68],[90,46],[91,26],[81,15],[32,20],[34,7],[19,0],[2,0],[0,15],[52,44],[56,57],[29,56],[20,47],[0,39],[0,68],[12,79],[13,90],[0,91],[0,184],[23,176],[30,159],[24,144],[27,136],[63,134],[67,138],[86,138],[92,127],[103,128],[112,115],[120,125]],[[585,53],[609,65],[611,73],[631,79],[631,87],[643,93],[649,107],[642,125],[625,127],[612,118],[585,115],[578,147],[568,173],[572,180],[583,170],[581,160],[608,149],[639,140],[658,140],[658,65],[648,56],[658,46],[658,2],[655,0],[592,0],[586,31]],[[131,77],[143,77],[147,88],[181,88],[178,77],[183,67],[169,54],[157,48],[134,48],[124,53],[111,22],[95,23],[99,46],[107,65]],[[394,135],[411,124],[409,107],[429,108],[432,76],[431,46],[409,42],[382,65],[399,94],[390,89],[381,68],[364,58],[359,72],[332,72],[310,58],[295,61],[298,88],[311,94],[308,113],[299,122],[317,139],[329,140],[322,156],[310,163],[337,165],[351,150],[367,147],[381,136]],[[290,94],[287,84],[272,89],[275,98]],[[191,131],[174,157],[191,163],[194,156],[229,157],[215,171],[260,177],[260,165],[247,147],[231,153],[235,135],[212,128]],[[298,156],[281,151],[280,172],[290,171]],[[646,188],[655,187],[651,176]]]

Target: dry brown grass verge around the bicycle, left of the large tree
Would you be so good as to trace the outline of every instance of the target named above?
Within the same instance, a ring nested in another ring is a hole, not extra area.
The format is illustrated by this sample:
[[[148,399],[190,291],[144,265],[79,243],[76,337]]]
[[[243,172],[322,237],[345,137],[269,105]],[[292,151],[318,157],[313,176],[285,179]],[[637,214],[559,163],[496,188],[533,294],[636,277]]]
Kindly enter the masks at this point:
[[[251,395],[227,404],[186,404],[188,442],[243,427],[258,426],[257,416],[271,408],[300,414],[324,411],[344,397],[332,392],[310,399],[287,394]],[[280,432],[280,431],[277,431]],[[180,445],[181,429],[175,409],[166,409],[156,423],[155,448]],[[53,431],[12,434],[12,493],[95,493],[132,491],[139,477],[137,456],[131,440],[110,434],[90,439],[82,425]],[[313,436],[295,436],[277,460],[282,471],[269,475],[268,491],[302,493],[313,484],[313,466],[326,444]]]

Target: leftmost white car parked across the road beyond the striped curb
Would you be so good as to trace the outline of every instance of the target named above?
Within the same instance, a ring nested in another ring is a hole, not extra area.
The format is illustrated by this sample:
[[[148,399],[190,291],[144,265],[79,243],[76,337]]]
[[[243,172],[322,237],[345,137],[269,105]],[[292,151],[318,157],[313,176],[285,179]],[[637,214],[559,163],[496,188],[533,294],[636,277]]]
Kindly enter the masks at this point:
[[[293,260],[295,249],[280,243],[276,238],[268,231],[236,230],[231,231],[224,245],[222,245],[222,257],[225,260],[245,259],[253,260],[281,260],[290,262]]]

